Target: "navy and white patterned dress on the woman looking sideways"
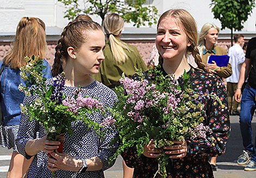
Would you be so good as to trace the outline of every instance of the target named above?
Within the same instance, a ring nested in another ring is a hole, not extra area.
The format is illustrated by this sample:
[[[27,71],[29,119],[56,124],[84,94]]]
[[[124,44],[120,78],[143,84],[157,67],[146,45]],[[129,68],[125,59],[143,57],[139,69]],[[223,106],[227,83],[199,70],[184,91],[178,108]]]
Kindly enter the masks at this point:
[[[46,83],[53,85],[53,79],[48,79]],[[64,86],[63,91],[66,96],[71,96],[76,89],[77,87]],[[82,87],[82,89],[85,90],[82,91],[83,96],[96,98],[99,102],[103,103],[104,107],[114,106],[114,100],[116,98],[115,93],[100,82],[94,81],[87,87]],[[31,103],[34,99],[35,96],[25,97],[23,104]],[[89,115],[89,117],[99,123],[105,119],[100,113],[94,113],[93,115]],[[101,159],[103,168],[101,170],[86,171],[86,173],[80,174],[76,171],[58,170],[55,174],[56,177],[104,177],[103,170],[106,170],[113,165],[113,163],[108,163],[108,159],[113,156],[113,151],[118,148],[117,142],[114,145],[109,145],[109,142],[117,137],[117,132],[108,132],[108,134],[105,134],[105,136],[101,138],[92,130],[92,128],[88,130],[87,125],[82,121],[78,121],[76,123],[73,122],[72,130],[74,133],[72,136],[65,134],[63,152],[75,159],[88,159],[97,156]],[[16,144],[20,154],[25,156],[27,159],[31,158],[31,156],[26,154],[25,145],[28,140],[36,138],[36,132],[39,132],[39,138],[45,136],[44,127],[42,127],[39,122],[35,120],[29,121],[28,116],[22,114]],[[47,169],[47,165],[47,154],[40,151],[35,155],[28,171],[28,177],[52,177],[52,173]]]

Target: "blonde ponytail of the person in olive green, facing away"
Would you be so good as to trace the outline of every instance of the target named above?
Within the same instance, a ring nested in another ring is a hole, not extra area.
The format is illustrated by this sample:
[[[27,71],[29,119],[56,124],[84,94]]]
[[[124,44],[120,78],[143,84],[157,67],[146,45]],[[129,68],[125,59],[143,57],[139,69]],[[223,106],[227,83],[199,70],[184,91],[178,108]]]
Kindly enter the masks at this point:
[[[124,20],[122,17],[115,13],[108,14],[103,21],[103,28],[107,34],[107,38],[109,39],[113,57],[118,63],[124,63],[125,60],[128,59],[124,49],[128,50],[129,52],[132,51],[132,48],[125,44],[125,42],[116,39],[116,36],[121,33],[123,27]]]

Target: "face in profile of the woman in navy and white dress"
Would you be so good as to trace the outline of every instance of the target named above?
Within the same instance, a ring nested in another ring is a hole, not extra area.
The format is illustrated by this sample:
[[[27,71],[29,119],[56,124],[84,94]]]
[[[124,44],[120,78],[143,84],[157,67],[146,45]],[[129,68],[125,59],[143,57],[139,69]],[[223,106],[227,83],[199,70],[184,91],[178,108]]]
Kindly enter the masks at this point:
[[[88,36],[86,42],[75,52],[76,71],[85,75],[96,74],[99,73],[101,62],[105,59],[103,55],[105,35],[102,30],[89,31],[86,35]]]

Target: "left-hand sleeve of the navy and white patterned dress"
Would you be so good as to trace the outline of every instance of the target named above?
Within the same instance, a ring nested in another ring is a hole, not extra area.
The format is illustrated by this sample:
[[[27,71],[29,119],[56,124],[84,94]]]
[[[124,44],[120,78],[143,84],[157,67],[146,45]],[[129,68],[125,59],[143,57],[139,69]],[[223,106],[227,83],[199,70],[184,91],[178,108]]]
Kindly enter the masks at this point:
[[[25,96],[23,100],[23,105],[26,103],[32,103],[35,100],[35,96]],[[17,134],[17,139],[15,140],[17,149],[21,155],[26,159],[30,159],[32,156],[27,155],[25,151],[25,146],[28,140],[36,139],[36,132],[39,130],[39,122],[35,119],[30,119],[29,114],[21,114],[21,121],[19,132]]]

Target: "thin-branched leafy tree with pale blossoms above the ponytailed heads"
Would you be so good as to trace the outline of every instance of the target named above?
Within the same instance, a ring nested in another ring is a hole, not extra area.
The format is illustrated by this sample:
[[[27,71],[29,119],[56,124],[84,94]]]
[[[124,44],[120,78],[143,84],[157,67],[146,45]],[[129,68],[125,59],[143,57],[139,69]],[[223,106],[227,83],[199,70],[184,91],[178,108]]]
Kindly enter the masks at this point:
[[[133,26],[151,26],[157,22],[157,9],[143,5],[146,0],[58,0],[68,9],[65,16],[74,20],[78,14],[99,15],[102,22],[107,13],[118,13],[125,22],[133,22]]]

